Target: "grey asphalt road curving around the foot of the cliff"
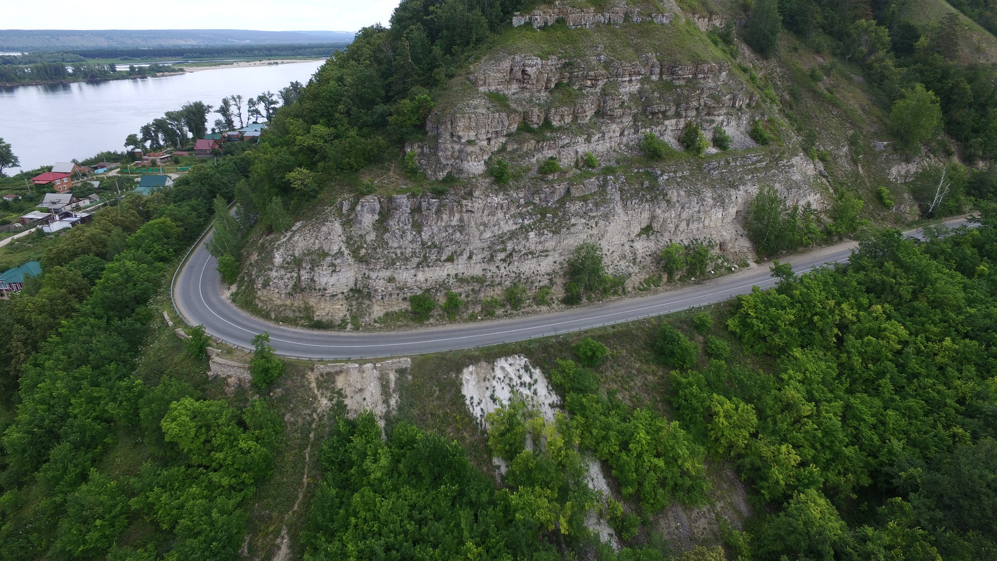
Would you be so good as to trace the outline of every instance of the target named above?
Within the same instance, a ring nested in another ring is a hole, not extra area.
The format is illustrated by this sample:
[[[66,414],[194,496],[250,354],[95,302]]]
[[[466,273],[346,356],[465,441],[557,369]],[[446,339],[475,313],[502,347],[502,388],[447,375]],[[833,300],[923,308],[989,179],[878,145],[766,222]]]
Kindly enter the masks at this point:
[[[968,222],[957,219],[945,224],[958,228]],[[923,233],[913,230],[904,235],[920,237]],[[750,292],[752,286],[769,287],[776,281],[768,265],[753,266],[675,290],[551,313],[408,331],[318,331],[274,324],[231,303],[222,295],[215,260],[205,248],[206,240],[197,245],[173,279],[173,302],[186,322],[202,324],[210,335],[243,348],[252,346],[255,334],[267,331],[278,354],[311,359],[419,354],[543,337],[706,305]],[[853,242],[837,244],[794,255],[787,261],[793,264],[794,271],[805,273],[847,261],[856,247]]]

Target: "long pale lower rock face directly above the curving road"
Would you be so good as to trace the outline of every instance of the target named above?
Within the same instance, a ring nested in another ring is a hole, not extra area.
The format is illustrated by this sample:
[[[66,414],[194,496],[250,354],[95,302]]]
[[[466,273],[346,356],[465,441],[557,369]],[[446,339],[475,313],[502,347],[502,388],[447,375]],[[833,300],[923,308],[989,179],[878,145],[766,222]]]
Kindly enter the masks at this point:
[[[482,181],[466,199],[368,196],[336,205],[297,225],[272,253],[253,256],[257,298],[271,308],[307,304],[317,319],[356,315],[367,324],[408,308],[404,298],[425,289],[486,297],[515,281],[529,290],[553,282],[556,295],[565,261],[584,242],[599,245],[610,272],[631,276],[633,288],[657,267],[668,241],[709,241],[714,251],[748,254],[740,216],[762,184],[791,204],[824,206],[813,188],[817,169],[805,157],[742,154],[639,177],[647,181],[610,175],[522,182],[501,192]]]

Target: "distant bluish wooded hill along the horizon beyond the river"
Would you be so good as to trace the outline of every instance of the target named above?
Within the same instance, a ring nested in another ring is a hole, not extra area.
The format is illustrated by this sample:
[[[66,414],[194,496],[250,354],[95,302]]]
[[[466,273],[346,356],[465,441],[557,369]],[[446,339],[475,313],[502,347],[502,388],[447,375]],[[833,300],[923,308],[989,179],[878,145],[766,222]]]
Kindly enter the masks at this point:
[[[0,51],[348,43],[353,40],[353,35],[353,32],[347,31],[241,29],[3,29],[0,30]]]

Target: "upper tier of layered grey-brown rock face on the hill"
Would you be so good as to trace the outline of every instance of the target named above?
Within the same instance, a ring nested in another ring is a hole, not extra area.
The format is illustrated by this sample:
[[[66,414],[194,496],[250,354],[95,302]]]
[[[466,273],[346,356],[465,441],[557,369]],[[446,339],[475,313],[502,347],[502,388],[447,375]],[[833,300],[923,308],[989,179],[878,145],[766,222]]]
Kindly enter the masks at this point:
[[[677,146],[676,135],[690,120],[723,126],[735,148],[755,146],[747,136],[753,116],[743,110],[758,96],[729,79],[728,64],[662,59],[655,53],[632,62],[530,55],[486,59],[468,79],[479,92],[506,96],[507,106],[482,96],[435,111],[426,125],[429,138],[409,148],[430,178],[442,179],[481,175],[501,149],[508,152],[503,158],[520,164],[553,157],[571,166],[587,152],[602,157],[632,151],[647,131]],[[548,142],[514,135],[521,124],[544,123],[555,129]]]

